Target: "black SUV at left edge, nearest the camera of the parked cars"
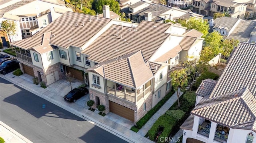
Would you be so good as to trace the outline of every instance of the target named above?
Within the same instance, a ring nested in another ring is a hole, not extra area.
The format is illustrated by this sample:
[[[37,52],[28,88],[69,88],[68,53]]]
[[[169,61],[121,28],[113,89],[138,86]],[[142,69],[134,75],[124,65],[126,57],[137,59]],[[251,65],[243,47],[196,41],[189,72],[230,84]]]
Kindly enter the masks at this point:
[[[11,60],[8,60],[8,61],[5,61],[4,63],[2,63],[2,65],[0,66],[0,72],[2,74],[6,74],[7,72],[14,71],[18,68],[20,68],[18,60],[11,59]]]

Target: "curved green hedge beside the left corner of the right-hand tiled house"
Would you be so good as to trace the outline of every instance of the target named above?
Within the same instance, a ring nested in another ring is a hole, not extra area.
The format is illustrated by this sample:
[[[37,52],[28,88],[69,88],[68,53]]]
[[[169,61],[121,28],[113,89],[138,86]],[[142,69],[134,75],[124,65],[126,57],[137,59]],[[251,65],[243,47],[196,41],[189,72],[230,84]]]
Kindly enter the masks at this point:
[[[192,90],[196,91],[197,88],[200,86],[202,80],[207,79],[207,78],[217,80],[219,78],[219,75],[215,74],[213,72],[208,72],[208,71],[203,72],[201,74],[201,76],[196,80],[196,82],[192,85]]]

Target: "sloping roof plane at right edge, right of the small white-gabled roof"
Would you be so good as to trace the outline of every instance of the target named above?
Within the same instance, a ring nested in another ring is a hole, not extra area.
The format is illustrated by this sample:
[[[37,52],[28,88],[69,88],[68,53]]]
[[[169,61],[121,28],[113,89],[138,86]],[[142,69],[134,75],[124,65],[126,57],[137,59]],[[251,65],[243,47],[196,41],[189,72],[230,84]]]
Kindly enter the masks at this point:
[[[242,20],[235,27],[232,33],[226,39],[236,39],[240,42],[248,42],[251,33],[256,27],[256,22],[249,20]]]

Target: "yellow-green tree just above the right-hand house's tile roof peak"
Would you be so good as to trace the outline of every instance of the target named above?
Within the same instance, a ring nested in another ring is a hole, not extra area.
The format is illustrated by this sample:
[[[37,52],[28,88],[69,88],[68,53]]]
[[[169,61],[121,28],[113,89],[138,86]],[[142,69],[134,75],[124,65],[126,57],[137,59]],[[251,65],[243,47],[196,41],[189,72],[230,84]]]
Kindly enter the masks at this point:
[[[237,47],[239,44],[238,40],[224,40],[222,42],[222,55],[224,56],[224,59],[226,57],[230,56],[230,53],[233,51],[234,47]]]

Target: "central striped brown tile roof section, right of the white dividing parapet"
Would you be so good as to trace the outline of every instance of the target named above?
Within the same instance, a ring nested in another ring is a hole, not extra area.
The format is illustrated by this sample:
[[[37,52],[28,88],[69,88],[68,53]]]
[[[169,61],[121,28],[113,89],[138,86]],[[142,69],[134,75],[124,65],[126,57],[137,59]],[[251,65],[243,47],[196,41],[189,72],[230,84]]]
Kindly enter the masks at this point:
[[[126,26],[123,26],[122,29],[121,25],[113,24],[86,47],[82,51],[82,54],[90,56],[88,59],[91,61],[101,63],[141,50],[144,60],[148,61],[152,54],[170,35],[165,33],[170,25],[142,21],[136,29]],[[117,29],[119,29],[118,35]]]

